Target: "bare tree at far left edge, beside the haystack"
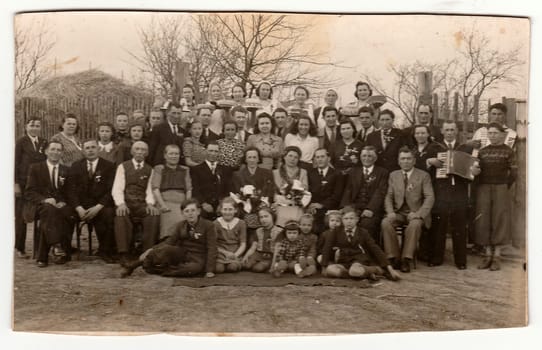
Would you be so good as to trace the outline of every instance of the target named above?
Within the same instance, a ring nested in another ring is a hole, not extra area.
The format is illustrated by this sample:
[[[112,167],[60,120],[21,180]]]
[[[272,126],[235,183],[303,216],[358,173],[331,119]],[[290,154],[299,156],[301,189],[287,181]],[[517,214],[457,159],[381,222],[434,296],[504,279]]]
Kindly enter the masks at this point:
[[[34,86],[50,73],[45,60],[55,45],[49,23],[42,19],[30,25],[15,23],[15,93]]]

